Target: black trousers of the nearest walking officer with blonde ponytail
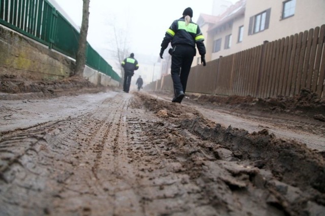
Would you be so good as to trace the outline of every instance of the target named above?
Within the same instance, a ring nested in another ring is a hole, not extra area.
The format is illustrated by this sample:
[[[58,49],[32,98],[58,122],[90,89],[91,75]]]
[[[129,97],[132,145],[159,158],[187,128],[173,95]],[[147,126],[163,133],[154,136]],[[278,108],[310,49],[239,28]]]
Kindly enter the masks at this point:
[[[175,96],[183,91],[185,93],[189,70],[196,49],[186,45],[176,45],[172,55],[171,74],[174,85]]]

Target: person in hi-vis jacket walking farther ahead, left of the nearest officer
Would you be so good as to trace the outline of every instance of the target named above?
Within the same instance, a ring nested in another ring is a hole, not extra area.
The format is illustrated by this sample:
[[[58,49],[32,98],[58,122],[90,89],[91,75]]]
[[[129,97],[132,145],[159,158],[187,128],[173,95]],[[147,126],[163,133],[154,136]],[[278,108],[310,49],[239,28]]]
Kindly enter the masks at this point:
[[[122,61],[121,65],[124,68],[123,91],[128,93],[130,90],[131,79],[134,75],[134,71],[139,69],[139,64],[137,59],[134,58],[134,54],[131,53],[129,57],[125,58]]]

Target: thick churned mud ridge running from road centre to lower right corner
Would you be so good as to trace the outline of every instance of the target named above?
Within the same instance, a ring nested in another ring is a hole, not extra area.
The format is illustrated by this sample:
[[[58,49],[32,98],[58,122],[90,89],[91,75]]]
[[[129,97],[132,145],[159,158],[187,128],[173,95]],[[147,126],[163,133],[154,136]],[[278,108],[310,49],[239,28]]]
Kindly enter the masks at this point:
[[[155,112],[157,116],[166,111],[168,117],[165,115],[164,120],[170,121],[176,128],[185,129],[202,140],[213,143],[202,144],[201,148],[207,153],[213,153],[217,160],[228,158],[230,161],[238,161],[243,169],[246,167],[246,171],[231,171],[237,180],[223,179],[231,190],[248,190],[245,187],[245,182],[248,181],[254,187],[267,190],[271,195],[264,201],[289,215],[310,215],[311,206],[324,208],[320,207],[325,206],[323,153],[311,151],[303,143],[294,140],[278,139],[274,134],[269,134],[268,130],[248,133],[231,126],[225,128],[202,118],[196,110],[187,106],[156,100],[144,94],[137,93],[137,96],[146,109]],[[162,133],[174,132],[168,129]],[[265,174],[268,171],[272,175]],[[193,175],[198,177],[194,173]]]

